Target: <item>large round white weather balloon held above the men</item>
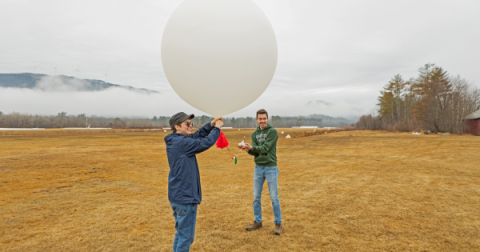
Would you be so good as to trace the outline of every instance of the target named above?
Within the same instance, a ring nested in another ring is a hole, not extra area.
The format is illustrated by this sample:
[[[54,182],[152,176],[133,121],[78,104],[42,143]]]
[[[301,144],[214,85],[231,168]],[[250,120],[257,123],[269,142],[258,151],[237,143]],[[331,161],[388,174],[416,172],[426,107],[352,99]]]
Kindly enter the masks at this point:
[[[186,0],[167,22],[162,63],[188,104],[223,116],[255,101],[272,81],[277,41],[250,0]]]

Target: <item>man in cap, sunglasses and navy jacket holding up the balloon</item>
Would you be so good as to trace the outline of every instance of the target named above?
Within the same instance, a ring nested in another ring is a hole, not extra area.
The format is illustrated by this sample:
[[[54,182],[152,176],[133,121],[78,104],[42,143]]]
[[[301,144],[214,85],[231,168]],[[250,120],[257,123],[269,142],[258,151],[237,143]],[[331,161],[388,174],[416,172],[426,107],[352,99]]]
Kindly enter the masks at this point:
[[[191,120],[195,116],[183,112],[170,118],[173,133],[165,137],[168,164],[168,200],[175,217],[173,251],[189,251],[195,238],[197,205],[202,201],[200,173],[195,154],[206,151],[217,142],[221,118],[215,118],[192,134]]]

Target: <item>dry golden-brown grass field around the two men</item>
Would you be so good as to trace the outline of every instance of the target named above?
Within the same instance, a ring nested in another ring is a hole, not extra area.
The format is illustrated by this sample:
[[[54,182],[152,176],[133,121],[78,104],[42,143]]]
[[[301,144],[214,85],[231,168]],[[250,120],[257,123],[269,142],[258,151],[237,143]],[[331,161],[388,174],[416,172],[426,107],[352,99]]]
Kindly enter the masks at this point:
[[[233,145],[252,131],[224,130]],[[0,251],[171,250],[168,133],[50,132],[0,135]],[[285,135],[285,233],[273,235],[266,183],[264,228],[245,230],[253,158],[242,152],[235,165],[213,147],[197,155],[192,251],[480,251],[480,137]]]

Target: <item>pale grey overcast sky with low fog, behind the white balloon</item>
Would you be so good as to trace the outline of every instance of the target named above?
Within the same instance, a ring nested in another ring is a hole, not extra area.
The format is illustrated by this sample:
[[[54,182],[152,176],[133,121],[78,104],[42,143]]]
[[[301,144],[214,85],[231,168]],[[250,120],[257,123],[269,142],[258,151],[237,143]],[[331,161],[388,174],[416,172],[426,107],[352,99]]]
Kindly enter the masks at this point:
[[[160,92],[0,88],[0,111],[205,114],[176,95],[162,68],[163,30],[181,2],[0,0],[0,73],[78,73]],[[429,62],[480,87],[478,0],[253,2],[275,30],[277,70],[257,101],[227,116],[254,116],[259,108],[271,115],[360,116],[375,108],[379,91],[394,75],[417,77]]]

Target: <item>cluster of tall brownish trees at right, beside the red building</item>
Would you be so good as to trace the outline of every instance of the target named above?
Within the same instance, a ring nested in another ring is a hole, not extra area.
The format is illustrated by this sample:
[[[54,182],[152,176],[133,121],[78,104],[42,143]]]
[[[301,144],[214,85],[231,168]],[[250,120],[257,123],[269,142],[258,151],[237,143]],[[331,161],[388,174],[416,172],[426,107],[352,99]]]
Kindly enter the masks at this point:
[[[360,117],[356,127],[463,134],[465,116],[480,109],[480,90],[435,64],[418,72],[409,80],[395,75],[380,91],[376,113]]]

